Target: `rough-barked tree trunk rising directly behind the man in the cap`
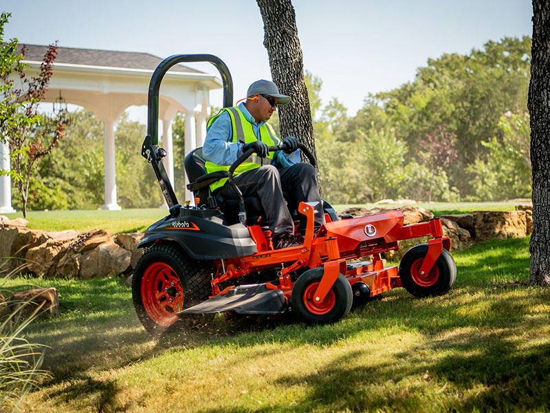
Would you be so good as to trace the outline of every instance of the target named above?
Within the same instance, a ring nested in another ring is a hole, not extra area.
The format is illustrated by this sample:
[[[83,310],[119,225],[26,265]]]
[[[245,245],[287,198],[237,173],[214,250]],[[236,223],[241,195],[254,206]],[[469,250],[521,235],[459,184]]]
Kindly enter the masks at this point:
[[[296,136],[316,156],[314,125],[304,80],[302,48],[290,0],[257,0],[273,81],[290,103],[279,109],[281,138]]]

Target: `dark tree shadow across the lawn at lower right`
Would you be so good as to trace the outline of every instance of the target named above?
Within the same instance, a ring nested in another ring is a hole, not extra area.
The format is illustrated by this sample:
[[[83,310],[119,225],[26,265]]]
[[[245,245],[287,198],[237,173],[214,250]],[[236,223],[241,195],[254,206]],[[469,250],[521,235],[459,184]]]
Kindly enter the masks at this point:
[[[521,287],[516,290],[525,291]],[[316,372],[295,374],[290,368],[276,385],[281,389],[306,385],[305,396],[294,405],[272,405],[256,411],[550,410],[548,317],[533,317],[530,312],[536,306],[547,306],[550,292],[539,288],[527,291],[531,293],[529,300],[496,291],[489,299],[471,297],[462,304],[442,301],[443,306],[437,306],[431,301],[431,309],[423,305],[429,299],[404,299],[410,301],[409,309],[397,300],[382,302],[377,317],[367,323],[342,321],[322,326],[324,332],[333,330],[331,338],[325,339],[318,327],[300,326],[301,331],[289,338],[292,343],[331,345],[335,337],[353,337],[364,330],[391,326],[401,326],[404,333],[420,333],[423,339],[407,350],[393,353],[386,358],[388,361],[378,361],[371,348],[361,346],[347,350]],[[463,313],[481,304],[485,307],[480,313]],[[352,318],[366,320],[369,310],[363,308],[358,313]],[[318,333],[316,339],[311,332]],[[241,337],[235,340],[241,345],[245,342]],[[285,341],[281,336],[276,340]],[[241,410],[217,407],[208,412]]]

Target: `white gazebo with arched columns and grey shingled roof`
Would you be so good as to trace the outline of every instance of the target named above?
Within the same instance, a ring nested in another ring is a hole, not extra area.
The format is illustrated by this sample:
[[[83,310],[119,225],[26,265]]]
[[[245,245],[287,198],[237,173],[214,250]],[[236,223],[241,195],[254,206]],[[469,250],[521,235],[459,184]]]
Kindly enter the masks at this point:
[[[47,50],[42,45],[27,45],[24,63],[28,75],[38,73]],[[20,46],[21,50],[21,46]],[[132,105],[146,105],[151,75],[162,61],[157,56],[135,52],[58,47],[54,71],[45,96],[55,102],[61,96],[67,103],[83,106],[103,120],[105,194],[102,209],[120,209],[115,180],[115,122]],[[162,147],[168,155],[164,167],[174,187],[172,122],[185,114],[185,152],[202,146],[209,115],[209,91],[221,87],[221,79],[184,65],[176,65],[164,76],[159,95],[159,119],[162,120]],[[9,151],[1,149],[1,167],[10,169]],[[136,148],[139,150],[139,148]],[[145,160],[144,160],[145,161]],[[192,194],[186,191],[187,200]],[[14,212],[11,205],[10,177],[0,178],[0,213]]]

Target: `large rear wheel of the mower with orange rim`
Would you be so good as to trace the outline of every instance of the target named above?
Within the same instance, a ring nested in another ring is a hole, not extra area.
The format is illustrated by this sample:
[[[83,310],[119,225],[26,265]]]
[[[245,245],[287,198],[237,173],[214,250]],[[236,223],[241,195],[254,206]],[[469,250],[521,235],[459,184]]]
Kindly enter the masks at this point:
[[[191,260],[176,244],[144,251],[133,273],[132,298],[145,329],[162,333],[178,321],[175,313],[208,299],[212,274],[212,262]]]

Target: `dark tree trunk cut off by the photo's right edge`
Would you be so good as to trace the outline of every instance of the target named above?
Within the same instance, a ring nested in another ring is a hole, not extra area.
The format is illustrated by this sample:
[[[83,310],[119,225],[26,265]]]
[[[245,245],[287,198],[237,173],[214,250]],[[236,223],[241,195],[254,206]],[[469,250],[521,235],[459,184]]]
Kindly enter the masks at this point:
[[[533,233],[531,284],[550,286],[550,2],[533,0],[531,49],[531,163],[533,167]]]

